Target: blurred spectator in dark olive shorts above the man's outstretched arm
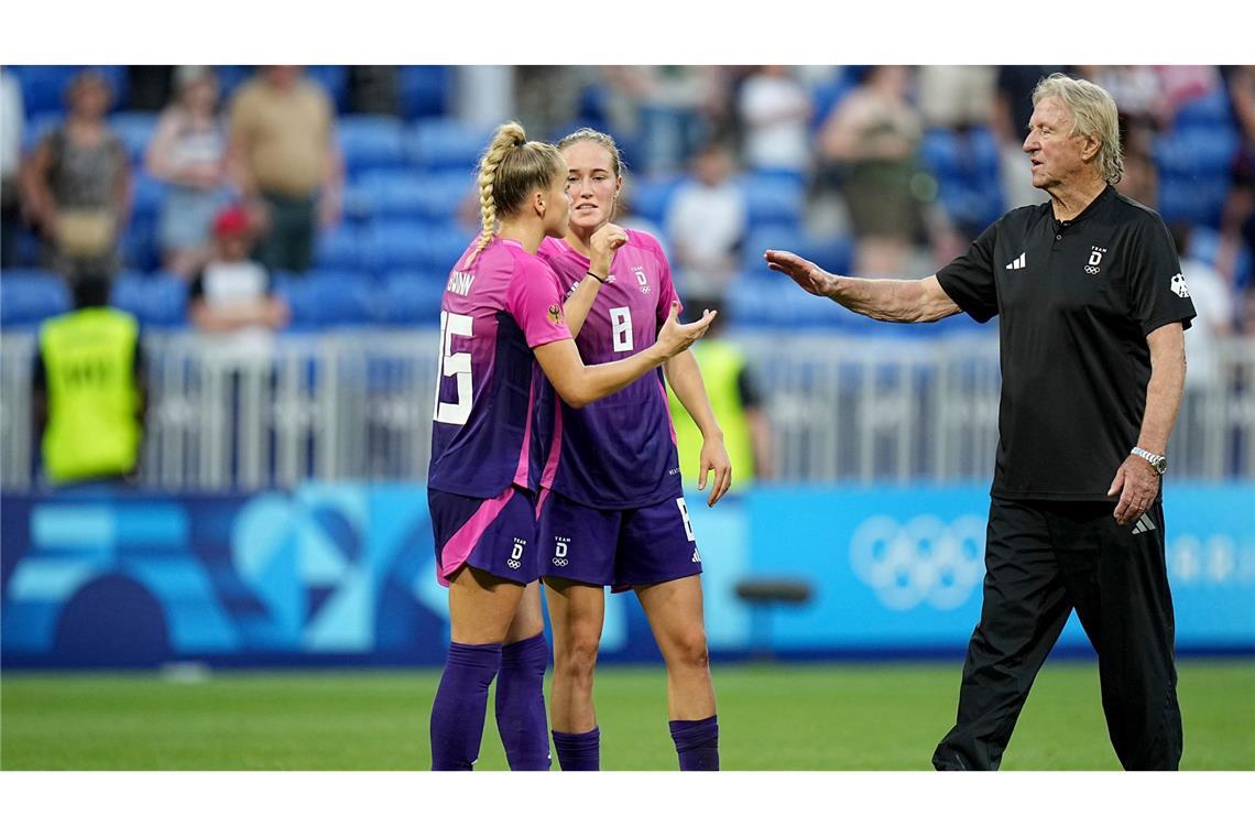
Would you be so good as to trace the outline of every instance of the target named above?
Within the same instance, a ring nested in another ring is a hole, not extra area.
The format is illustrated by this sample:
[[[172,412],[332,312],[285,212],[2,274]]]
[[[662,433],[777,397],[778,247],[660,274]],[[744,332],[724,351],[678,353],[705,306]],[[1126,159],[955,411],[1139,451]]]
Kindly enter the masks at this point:
[[[905,67],[871,67],[820,133],[820,153],[843,168],[856,272],[897,275],[924,233],[916,162],[922,120],[907,99]]]

